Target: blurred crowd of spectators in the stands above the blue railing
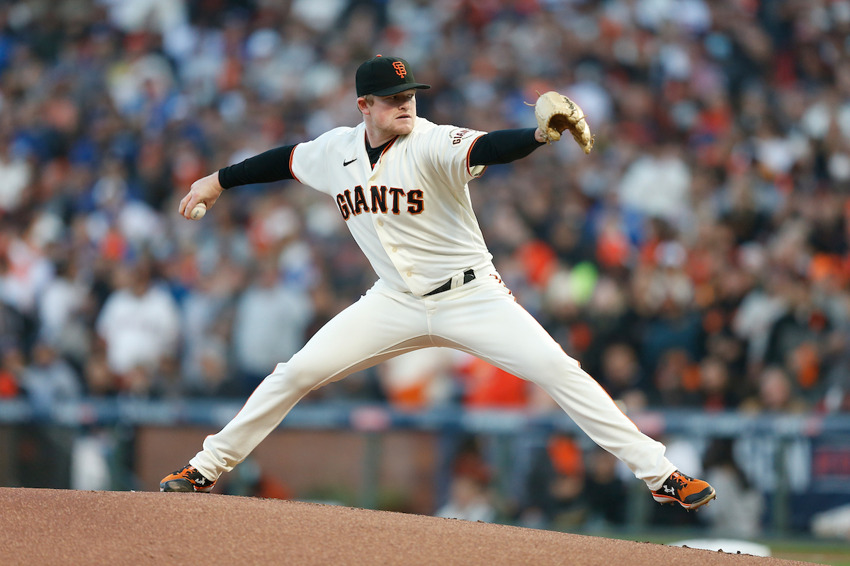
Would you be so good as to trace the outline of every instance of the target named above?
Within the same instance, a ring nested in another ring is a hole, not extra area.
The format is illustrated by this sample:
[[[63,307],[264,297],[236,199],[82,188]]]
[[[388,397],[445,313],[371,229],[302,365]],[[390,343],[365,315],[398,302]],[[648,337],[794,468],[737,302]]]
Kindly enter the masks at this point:
[[[850,409],[847,0],[0,2],[0,398],[244,396],[376,276],[331,199],[191,182],[354,126],[407,59],[419,115],[570,140],[470,183],[496,268],[628,410]],[[425,350],[321,397],[546,408]],[[334,389],[337,388],[337,389]]]

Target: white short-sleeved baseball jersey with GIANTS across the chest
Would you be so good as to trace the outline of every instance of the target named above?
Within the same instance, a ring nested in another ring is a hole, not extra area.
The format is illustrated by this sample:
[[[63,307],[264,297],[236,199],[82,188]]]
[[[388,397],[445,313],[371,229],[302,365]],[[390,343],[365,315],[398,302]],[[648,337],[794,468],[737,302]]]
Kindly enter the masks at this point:
[[[482,135],[416,118],[413,132],[390,142],[372,168],[361,123],[299,143],[290,169],[336,200],[378,277],[421,296],[492,260],[467,186],[484,171],[468,167]]]

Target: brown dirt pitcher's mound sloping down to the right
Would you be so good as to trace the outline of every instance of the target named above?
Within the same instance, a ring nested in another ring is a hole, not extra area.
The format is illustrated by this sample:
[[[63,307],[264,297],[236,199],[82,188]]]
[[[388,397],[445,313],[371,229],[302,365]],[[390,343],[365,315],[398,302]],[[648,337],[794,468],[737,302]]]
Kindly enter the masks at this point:
[[[732,564],[796,561],[251,497],[0,488],[0,563]]]

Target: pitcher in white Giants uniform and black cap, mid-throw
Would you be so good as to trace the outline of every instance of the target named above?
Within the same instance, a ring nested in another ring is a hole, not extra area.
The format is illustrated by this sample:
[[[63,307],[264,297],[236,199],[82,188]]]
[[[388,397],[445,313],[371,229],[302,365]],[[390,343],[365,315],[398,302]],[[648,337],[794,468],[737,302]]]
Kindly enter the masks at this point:
[[[552,395],[599,446],[643,479],[655,501],[693,509],[715,491],[680,473],[665,447],[638,430],[578,362],[502,283],[484,244],[467,183],[487,165],[518,160],[569,130],[586,153],[593,137],[581,109],[557,92],[536,104],[536,129],[476,132],[416,115],[404,59],[360,65],[363,121],[272,149],[194,183],[180,214],[200,218],[226,188],[296,179],[327,193],[377,272],[375,285],[282,361],[241,412],[162,491],[209,491],[311,389],[411,350],[448,346],[528,379]]]

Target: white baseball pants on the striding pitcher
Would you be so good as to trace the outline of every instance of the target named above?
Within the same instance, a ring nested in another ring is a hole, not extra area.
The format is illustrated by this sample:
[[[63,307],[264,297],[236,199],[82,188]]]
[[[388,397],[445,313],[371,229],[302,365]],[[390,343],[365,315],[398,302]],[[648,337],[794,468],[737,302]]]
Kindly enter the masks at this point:
[[[354,305],[315,333],[302,350],[258,385],[218,434],[190,460],[208,479],[242,462],[311,389],[407,351],[464,350],[538,384],[599,446],[620,458],[651,490],[676,470],[605,390],[549,336],[501,283],[495,270],[427,297],[378,280]]]

